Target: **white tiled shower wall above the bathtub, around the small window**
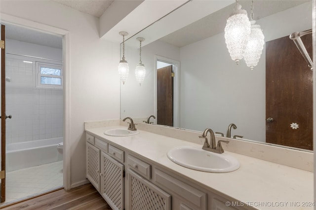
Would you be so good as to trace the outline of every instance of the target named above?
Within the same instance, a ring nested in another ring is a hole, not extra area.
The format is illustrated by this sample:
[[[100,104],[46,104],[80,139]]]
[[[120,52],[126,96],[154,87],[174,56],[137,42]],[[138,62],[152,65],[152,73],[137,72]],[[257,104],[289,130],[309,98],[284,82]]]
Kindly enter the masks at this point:
[[[62,137],[63,90],[36,88],[35,62],[23,57],[5,62],[6,115],[12,116],[6,120],[6,143]]]

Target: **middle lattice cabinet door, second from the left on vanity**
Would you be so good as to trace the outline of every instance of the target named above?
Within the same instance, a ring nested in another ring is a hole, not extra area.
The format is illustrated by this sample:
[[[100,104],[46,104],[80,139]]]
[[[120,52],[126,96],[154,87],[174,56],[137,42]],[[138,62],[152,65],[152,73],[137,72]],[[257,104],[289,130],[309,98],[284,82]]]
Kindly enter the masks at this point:
[[[113,210],[124,209],[124,165],[101,152],[101,195]]]

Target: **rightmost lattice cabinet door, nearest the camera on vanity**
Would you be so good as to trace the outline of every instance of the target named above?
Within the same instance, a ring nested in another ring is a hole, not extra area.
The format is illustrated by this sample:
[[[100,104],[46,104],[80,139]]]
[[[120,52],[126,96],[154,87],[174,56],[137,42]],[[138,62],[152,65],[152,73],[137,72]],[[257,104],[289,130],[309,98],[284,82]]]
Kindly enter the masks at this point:
[[[128,171],[128,197],[131,210],[171,210],[171,195]]]

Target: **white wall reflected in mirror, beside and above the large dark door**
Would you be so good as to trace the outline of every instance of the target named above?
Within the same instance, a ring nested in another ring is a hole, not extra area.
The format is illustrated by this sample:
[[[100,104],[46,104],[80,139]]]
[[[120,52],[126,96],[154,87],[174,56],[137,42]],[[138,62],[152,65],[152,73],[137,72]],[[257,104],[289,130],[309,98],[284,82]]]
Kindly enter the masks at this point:
[[[293,15],[295,14],[295,15]],[[312,2],[307,2],[257,24],[265,41],[312,28]],[[231,60],[224,33],[182,47],[180,126],[198,131],[210,127],[232,135],[265,142],[265,46],[254,70],[244,60]]]

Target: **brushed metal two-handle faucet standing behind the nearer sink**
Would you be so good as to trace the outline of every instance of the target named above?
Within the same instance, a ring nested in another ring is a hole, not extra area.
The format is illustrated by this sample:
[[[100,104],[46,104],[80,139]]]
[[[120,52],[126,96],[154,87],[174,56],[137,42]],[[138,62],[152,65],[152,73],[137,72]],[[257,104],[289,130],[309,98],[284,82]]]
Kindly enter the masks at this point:
[[[210,142],[208,143],[208,140],[207,140],[207,133],[209,132],[210,134]],[[222,147],[222,142],[224,143],[229,143],[229,141],[224,141],[224,140],[219,140],[217,142],[217,146],[215,147],[216,145],[216,141],[215,141],[215,135],[214,135],[214,132],[212,129],[210,128],[206,128],[202,135],[201,136],[198,136],[199,138],[201,139],[205,139],[205,142],[204,142],[204,145],[202,147],[203,150],[207,150],[207,151],[212,151],[212,152],[216,152],[216,153],[223,153],[224,152],[224,149]]]

